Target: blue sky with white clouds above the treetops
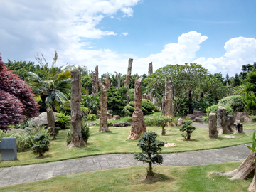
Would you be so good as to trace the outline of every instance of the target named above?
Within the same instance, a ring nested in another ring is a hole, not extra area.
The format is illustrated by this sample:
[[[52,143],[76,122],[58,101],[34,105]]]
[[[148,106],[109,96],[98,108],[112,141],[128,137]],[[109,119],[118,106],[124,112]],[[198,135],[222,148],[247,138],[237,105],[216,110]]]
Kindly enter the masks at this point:
[[[147,74],[167,64],[199,63],[210,73],[240,73],[256,61],[254,0],[0,0],[0,53],[36,62],[86,65],[99,73]]]

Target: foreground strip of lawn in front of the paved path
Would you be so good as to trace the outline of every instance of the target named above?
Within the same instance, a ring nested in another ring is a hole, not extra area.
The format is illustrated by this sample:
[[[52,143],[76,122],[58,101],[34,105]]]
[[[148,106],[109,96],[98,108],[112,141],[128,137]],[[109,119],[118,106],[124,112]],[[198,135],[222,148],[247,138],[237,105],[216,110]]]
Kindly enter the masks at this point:
[[[206,166],[157,166],[156,177],[146,178],[143,166],[90,171],[1,188],[5,191],[247,191],[252,178],[228,180],[214,171],[232,171],[242,161]],[[97,184],[95,184],[97,183]]]

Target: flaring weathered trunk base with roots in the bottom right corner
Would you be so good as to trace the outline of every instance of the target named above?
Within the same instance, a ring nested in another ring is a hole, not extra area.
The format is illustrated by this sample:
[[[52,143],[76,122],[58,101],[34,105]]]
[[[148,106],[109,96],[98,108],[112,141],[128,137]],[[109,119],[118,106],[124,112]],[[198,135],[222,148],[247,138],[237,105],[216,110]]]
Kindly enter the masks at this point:
[[[255,156],[256,153],[253,151],[250,151],[250,154],[247,156],[245,161],[240,164],[238,169],[235,169],[233,171],[228,171],[222,174],[223,176],[233,176],[230,178],[230,180],[235,179],[247,179],[249,176],[254,174],[255,171]],[[252,183],[250,183],[250,186],[248,188],[248,191],[255,191],[255,176],[252,179]]]

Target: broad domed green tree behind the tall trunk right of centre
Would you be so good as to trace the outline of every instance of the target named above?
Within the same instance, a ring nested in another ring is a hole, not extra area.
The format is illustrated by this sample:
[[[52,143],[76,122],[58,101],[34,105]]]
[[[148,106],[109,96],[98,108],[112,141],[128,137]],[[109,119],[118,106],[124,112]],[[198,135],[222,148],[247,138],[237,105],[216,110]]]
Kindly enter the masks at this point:
[[[165,78],[170,76],[174,86],[174,115],[183,102],[188,98],[189,92],[193,98],[198,98],[201,85],[207,78],[207,69],[196,63],[185,65],[166,65],[147,76],[145,83],[147,90],[151,90],[156,97],[162,97]]]

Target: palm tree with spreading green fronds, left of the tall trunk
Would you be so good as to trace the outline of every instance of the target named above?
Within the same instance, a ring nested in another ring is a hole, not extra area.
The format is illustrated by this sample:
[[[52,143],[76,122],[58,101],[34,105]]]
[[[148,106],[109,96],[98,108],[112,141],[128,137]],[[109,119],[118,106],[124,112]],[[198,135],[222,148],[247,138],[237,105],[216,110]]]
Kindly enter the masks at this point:
[[[39,100],[46,103],[48,127],[51,127],[49,132],[53,132],[53,127],[55,127],[53,105],[61,105],[65,100],[68,100],[67,96],[70,93],[71,87],[71,73],[69,69],[73,66],[67,63],[65,68],[55,67],[55,63],[58,60],[56,50],[51,68],[49,68],[48,62],[46,62],[42,53],[41,56],[42,58],[39,58],[39,56],[36,55],[35,58],[44,69],[44,77],[41,78],[38,74],[33,72],[28,72],[28,75],[30,75],[31,80],[33,80],[33,82],[30,83],[33,92]]]

